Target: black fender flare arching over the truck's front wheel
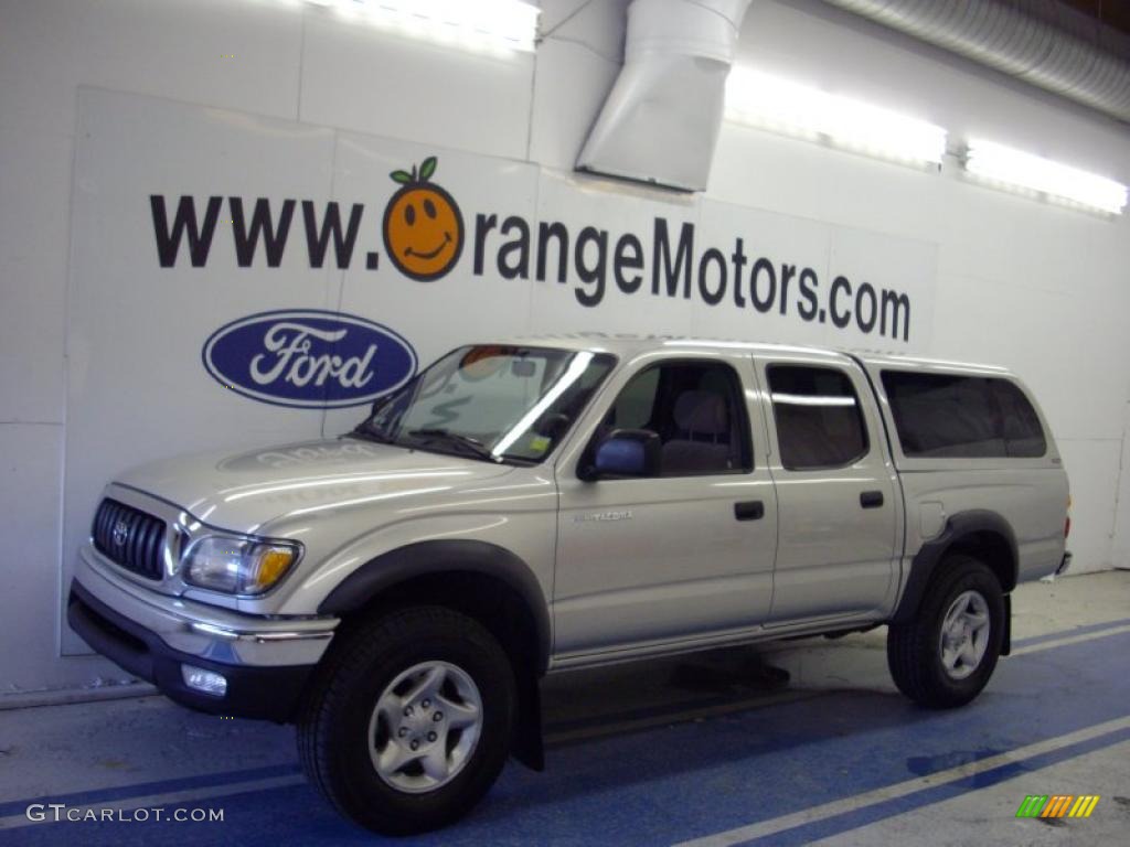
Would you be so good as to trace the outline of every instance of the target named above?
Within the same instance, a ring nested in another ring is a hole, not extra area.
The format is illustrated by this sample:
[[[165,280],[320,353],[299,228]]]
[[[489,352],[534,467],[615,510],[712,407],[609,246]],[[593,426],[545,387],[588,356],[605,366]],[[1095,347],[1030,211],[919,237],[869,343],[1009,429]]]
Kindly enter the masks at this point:
[[[537,634],[537,674],[549,664],[549,605],[533,570],[522,559],[486,541],[419,541],[370,559],[342,579],[318,606],[319,614],[342,617],[357,611],[398,583],[428,574],[472,573],[494,577],[525,604]]]

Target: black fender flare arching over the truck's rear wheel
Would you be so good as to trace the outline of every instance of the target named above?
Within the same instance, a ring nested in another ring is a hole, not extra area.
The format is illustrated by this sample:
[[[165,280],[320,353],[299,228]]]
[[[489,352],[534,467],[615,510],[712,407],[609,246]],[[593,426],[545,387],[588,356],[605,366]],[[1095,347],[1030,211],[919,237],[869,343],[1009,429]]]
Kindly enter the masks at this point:
[[[984,561],[997,575],[1006,595],[1016,587],[1019,557],[1011,525],[1000,514],[988,509],[960,512],[950,516],[938,538],[922,544],[915,553],[890,622],[905,623],[914,618],[927,587],[944,567],[946,557],[955,552]]]

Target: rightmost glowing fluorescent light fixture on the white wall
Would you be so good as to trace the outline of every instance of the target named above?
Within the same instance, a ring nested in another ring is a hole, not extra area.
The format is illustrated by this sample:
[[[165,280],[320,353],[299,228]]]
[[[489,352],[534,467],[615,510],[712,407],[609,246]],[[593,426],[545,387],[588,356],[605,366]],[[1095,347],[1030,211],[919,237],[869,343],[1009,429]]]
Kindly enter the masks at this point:
[[[1127,186],[1122,183],[994,141],[971,139],[965,169],[982,182],[1110,215],[1121,215],[1127,204]]]

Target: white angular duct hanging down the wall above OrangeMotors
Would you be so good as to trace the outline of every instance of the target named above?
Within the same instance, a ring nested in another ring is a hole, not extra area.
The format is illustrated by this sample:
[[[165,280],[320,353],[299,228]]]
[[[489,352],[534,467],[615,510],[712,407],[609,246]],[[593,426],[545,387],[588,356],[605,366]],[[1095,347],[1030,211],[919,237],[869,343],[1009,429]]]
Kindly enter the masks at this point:
[[[749,0],[633,0],[624,68],[577,169],[705,189],[748,6]]]

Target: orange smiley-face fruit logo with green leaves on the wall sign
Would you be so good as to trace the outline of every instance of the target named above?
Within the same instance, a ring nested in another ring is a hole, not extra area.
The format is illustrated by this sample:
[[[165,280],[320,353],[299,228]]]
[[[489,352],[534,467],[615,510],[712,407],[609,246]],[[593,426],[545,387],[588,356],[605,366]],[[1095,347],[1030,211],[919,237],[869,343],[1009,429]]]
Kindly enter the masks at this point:
[[[429,156],[419,174],[389,174],[400,190],[384,208],[384,248],[397,269],[423,282],[438,279],[455,267],[463,250],[463,216],[455,199],[428,182],[436,159]]]

